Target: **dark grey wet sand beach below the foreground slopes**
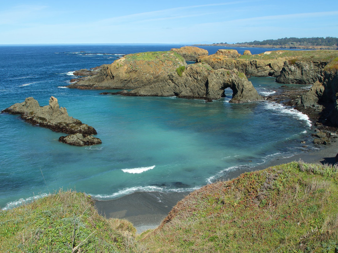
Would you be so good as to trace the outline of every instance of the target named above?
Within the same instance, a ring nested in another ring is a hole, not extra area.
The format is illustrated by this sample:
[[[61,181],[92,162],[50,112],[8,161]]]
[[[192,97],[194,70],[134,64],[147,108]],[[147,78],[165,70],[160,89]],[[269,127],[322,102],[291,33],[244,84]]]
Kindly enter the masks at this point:
[[[270,166],[303,160],[307,163],[335,163],[338,153],[338,142],[327,147],[320,146],[315,152],[301,153],[289,158],[271,161],[250,170],[237,170],[230,172],[225,179],[238,177],[240,174],[253,170],[265,169]],[[156,228],[167,216],[171,208],[182,200],[189,192],[134,192],[114,200],[95,202],[100,214],[107,218],[120,218],[130,221],[141,233],[147,229]]]

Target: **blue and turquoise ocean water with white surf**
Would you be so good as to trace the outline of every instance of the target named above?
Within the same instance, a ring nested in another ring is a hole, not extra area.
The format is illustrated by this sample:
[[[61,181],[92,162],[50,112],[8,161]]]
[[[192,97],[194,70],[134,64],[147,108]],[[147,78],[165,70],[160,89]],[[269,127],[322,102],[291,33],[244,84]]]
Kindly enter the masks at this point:
[[[64,87],[74,78],[72,71],[112,63],[122,54],[180,46],[0,46],[0,110],[29,96],[44,106],[54,96],[102,140],[91,147],[70,146],[58,142],[62,133],[33,126],[19,115],[0,114],[0,207],[59,188],[97,199],[133,191],[192,190],[226,178],[229,171],[314,149],[310,140],[307,148],[300,143],[311,131],[307,116],[273,102],[229,103],[231,90],[206,103]],[[224,47],[202,48],[212,54]],[[243,53],[246,48],[236,49]],[[250,81],[262,95],[281,86],[271,77]]]

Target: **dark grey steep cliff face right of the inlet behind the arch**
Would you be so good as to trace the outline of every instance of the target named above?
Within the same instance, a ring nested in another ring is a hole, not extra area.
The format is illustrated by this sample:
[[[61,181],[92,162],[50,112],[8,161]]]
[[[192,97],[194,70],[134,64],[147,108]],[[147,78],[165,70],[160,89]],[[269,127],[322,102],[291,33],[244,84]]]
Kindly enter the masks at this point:
[[[323,82],[324,67],[327,62],[285,61],[276,82],[283,84],[313,84]]]

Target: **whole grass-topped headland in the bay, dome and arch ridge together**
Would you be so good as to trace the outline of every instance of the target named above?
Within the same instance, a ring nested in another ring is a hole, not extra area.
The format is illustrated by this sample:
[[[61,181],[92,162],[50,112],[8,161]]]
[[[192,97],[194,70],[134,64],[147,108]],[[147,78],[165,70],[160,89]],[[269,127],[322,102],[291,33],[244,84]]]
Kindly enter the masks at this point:
[[[190,53],[191,50],[196,49],[189,48]],[[180,53],[183,51],[186,52],[186,48],[182,49]],[[204,55],[204,53],[197,50],[194,57],[196,55]],[[97,75],[79,78],[78,82],[70,84],[68,87],[132,89],[118,94],[178,96],[208,100],[219,99],[224,95],[224,89],[230,87],[233,90],[231,102],[262,99],[246,76],[236,69],[215,70],[205,62],[188,66],[183,56],[174,50],[125,55],[111,65],[102,65]]]

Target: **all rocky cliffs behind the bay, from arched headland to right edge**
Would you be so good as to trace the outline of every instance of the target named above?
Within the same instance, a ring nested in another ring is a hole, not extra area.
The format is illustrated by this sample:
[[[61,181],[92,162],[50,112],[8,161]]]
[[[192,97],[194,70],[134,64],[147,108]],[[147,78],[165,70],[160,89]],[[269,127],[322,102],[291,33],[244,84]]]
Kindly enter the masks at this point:
[[[228,49],[208,55],[203,50],[182,47],[167,52],[125,55],[110,65],[98,67],[97,74],[81,77],[68,87],[131,89],[118,94],[201,99],[218,99],[223,96],[223,90],[230,87],[234,92],[231,102],[247,102],[262,98],[246,76],[273,76],[279,83],[315,85],[310,91],[282,89],[267,99],[283,101],[312,119],[317,117],[323,125],[338,127],[337,50],[276,50],[254,55],[249,50],[243,55]],[[195,64],[185,62],[194,59]]]

